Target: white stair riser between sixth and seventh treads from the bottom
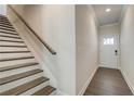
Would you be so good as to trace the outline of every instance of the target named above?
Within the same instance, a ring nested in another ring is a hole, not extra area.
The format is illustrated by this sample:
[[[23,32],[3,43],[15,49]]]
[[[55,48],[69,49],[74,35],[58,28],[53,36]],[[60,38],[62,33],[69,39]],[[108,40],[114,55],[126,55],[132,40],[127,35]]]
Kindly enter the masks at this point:
[[[28,51],[27,48],[9,48],[9,47],[0,47],[0,51]]]

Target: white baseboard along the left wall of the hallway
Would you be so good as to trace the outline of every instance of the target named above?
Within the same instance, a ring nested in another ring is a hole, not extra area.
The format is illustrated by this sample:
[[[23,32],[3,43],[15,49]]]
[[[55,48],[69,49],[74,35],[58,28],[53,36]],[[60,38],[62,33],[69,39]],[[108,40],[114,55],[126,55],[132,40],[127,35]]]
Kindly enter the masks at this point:
[[[94,77],[94,74],[96,73],[97,68],[98,67],[96,67],[94,70],[94,72],[92,73],[91,77],[85,81],[85,84],[83,85],[83,87],[82,87],[81,91],[78,93],[78,96],[83,96],[84,94],[84,92],[85,92],[88,86],[90,85],[92,78]]]

